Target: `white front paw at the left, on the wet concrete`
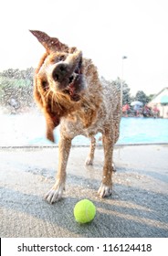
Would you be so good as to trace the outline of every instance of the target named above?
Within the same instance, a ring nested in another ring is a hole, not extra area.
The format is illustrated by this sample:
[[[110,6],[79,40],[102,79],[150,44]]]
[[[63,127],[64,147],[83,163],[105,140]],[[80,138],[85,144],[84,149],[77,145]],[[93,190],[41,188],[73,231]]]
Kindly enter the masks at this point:
[[[58,185],[52,187],[46,194],[45,199],[49,204],[53,204],[62,198],[64,185]]]

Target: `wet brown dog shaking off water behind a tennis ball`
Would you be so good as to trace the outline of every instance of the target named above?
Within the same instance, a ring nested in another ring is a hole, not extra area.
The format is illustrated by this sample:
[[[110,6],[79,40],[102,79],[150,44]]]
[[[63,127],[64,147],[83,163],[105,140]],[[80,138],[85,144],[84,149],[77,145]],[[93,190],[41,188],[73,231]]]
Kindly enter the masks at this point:
[[[68,48],[58,38],[40,31],[31,31],[47,52],[39,62],[34,95],[45,114],[47,138],[54,141],[53,130],[60,123],[58,175],[46,199],[54,203],[62,197],[66,182],[66,166],[71,140],[79,135],[90,138],[86,165],[92,165],[96,140],[102,133],[104,166],[100,197],[111,194],[113,145],[119,137],[121,121],[120,91],[114,83],[101,84],[96,67],[82,58],[77,48]]]

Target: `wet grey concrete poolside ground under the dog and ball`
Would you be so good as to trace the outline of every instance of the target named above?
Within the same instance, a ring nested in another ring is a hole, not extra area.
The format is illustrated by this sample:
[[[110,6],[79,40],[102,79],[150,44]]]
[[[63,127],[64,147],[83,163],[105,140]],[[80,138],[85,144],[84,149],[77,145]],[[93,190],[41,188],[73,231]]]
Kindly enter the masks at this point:
[[[73,147],[64,197],[43,199],[54,184],[58,148],[0,149],[0,237],[168,237],[168,145],[116,146],[113,194],[100,199],[103,151],[84,165],[88,147]],[[81,225],[73,208],[89,198],[95,219]]]

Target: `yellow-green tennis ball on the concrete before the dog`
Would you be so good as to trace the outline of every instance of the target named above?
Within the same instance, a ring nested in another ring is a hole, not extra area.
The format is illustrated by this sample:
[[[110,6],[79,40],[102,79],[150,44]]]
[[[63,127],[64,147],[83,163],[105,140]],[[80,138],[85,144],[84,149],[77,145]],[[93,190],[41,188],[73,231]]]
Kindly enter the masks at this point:
[[[95,218],[96,208],[88,199],[80,200],[74,208],[74,217],[79,223],[87,223]]]

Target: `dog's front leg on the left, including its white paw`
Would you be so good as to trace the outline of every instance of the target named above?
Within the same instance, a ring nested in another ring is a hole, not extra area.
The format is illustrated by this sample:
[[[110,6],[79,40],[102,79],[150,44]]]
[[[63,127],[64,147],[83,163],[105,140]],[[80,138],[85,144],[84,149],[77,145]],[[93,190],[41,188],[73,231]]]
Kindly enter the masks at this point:
[[[66,167],[68,162],[68,155],[70,152],[71,139],[61,136],[58,144],[58,174],[56,176],[56,183],[46,195],[47,202],[52,204],[58,201],[63,194],[66,182]]]

